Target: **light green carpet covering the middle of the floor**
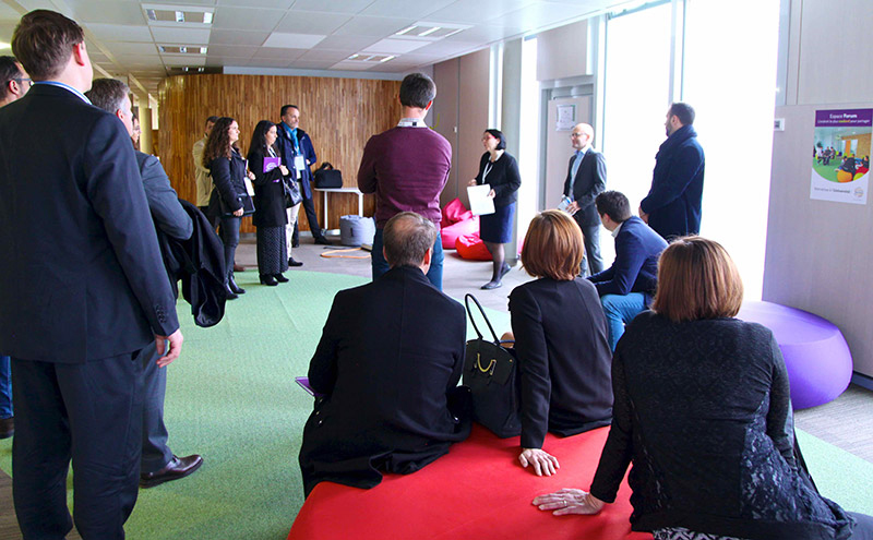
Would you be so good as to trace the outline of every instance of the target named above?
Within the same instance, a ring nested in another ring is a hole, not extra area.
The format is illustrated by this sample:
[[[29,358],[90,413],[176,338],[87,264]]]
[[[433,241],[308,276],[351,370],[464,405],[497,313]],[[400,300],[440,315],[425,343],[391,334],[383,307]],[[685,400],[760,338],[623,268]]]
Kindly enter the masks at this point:
[[[140,491],[127,525],[132,540],[287,536],[303,503],[297,454],[312,409],[294,377],[307,372],[334,293],[367,281],[299,271],[287,276],[288,284],[264,287],[254,271],[237,274],[248,292],[228,302],[225,320],[212,328],[194,326],[188,304],[179,303],[186,341],[168,368],[169,443],[178,455],[199,453],[205,463],[190,478]],[[509,328],[507,314],[487,311],[498,333]],[[822,492],[873,514],[873,464],[799,436]],[[11,447],[0,441],[7,472]]]

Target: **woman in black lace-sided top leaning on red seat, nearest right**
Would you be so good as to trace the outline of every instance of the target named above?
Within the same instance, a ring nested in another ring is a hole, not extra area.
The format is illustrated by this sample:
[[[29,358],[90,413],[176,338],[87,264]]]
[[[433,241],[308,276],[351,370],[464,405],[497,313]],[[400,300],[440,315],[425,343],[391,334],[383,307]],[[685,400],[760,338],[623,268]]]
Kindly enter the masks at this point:
[[[653,311],[615,348],[612,427],[590,492],[534,504],[597,514],[633,464],[631,528],[656,540],[873,538],[873,518],[821,496],[799,465],[779,346],[766,327],[734,319],[742,298],[721,245],[671,243]]]

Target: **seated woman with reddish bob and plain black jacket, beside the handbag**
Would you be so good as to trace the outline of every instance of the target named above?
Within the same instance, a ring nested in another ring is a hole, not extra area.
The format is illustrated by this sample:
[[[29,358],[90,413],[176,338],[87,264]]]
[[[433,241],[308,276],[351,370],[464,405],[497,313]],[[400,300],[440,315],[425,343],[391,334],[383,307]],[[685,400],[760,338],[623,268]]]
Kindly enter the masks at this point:
[[[577,277],[585,252],[569,214],[546,211],[530,221],[522,264],[535,281],[510,293],[522,383],[524,467],[553,475],[558,459],[542,449],[546,432],[575,435],[612,417],[607,320],[597,289]]]

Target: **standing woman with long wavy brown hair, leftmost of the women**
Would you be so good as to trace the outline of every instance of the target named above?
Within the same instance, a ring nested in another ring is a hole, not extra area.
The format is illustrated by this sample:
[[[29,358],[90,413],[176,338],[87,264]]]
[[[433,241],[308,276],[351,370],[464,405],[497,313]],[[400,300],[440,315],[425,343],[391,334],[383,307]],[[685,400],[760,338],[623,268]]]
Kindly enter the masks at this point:
[[[246,160],[239,154],[239,124],[232,118],[219,118],[203,148],[203,166],[210,169],[215,184],[210,196],[210,214],[219,216],[222,241],[225,244],[225,267],[227,299],[246,292],[234,280],[234,255],[239,243],[239,227],[242,224],[242,201],[246,191]],[[254,175],[249,173],[249,178]]]

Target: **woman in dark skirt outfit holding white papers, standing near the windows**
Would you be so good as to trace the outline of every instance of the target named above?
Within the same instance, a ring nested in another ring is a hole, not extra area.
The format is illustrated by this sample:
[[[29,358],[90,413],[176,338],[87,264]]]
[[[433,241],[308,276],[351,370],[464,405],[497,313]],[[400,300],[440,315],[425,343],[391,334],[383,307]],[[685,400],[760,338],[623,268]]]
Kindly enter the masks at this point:
[[[501,131],[486,130],[482,145],[486,153],[479,160],[479,173],[469,185],[491,185],[488,196],[494,200],[494,213],[479,218],[479,237],[494,261],[491,280],[482,285],[482,289],[497,289],[503,285],[501,278],[510,272],[503,244],[512,241],[516,192],[522,185],[522,176],[515,158],[506,154],[506,140]]]

